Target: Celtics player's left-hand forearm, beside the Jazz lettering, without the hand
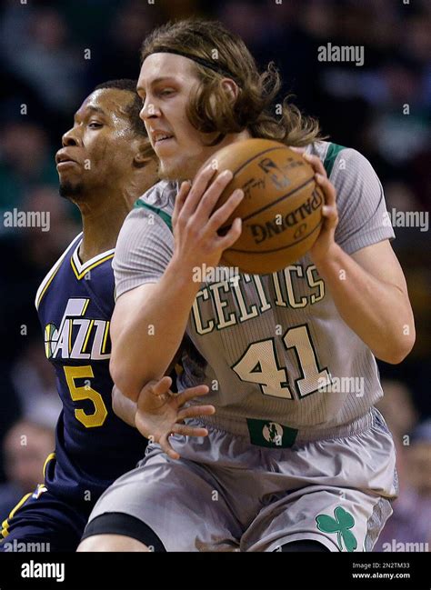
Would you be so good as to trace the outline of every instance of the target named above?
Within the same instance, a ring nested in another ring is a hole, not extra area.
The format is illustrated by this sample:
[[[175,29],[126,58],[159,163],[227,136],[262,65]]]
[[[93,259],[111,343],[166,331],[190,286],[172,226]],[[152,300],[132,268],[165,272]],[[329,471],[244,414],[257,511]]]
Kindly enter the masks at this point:
[[[174,256],[154,290],[121,318],[113,337],[110,369],[115,385],[130,399],[135,401],[147,382],[165,375],[181,344],[199,286]]]

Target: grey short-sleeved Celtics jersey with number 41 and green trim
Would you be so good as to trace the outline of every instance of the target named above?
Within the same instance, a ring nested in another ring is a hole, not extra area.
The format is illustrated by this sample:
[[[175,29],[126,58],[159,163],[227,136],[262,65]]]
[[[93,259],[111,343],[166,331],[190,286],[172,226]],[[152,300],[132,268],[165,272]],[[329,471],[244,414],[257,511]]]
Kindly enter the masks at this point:
[[[382,186],[356,150],[309,145],[336,186],[336,242],[349,255],[394,237]],[[265,174],[265,173],[263,173]],[[173,255],[175,184],[161,182],[125,220],[113,267],[117,296],[155,283]],[[271,275],[219,267],[195,296],[180,386],[205,383],[205,422],[252,443],[347,435],[382,395],[376,359],[344,322],[310,255]],[[340,275],[340,280],[343,280]],[[277,442],[278,441],[278,442]]]

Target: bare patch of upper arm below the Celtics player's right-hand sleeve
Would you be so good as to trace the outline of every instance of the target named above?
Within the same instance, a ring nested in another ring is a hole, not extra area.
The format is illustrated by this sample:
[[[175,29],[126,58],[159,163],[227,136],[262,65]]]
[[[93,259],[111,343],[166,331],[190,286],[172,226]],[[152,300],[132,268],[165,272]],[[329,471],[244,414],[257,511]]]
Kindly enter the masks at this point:
[[[361,248],[352,254],[352,258],[367,273],[407,295],[406,278],[389,240]]]

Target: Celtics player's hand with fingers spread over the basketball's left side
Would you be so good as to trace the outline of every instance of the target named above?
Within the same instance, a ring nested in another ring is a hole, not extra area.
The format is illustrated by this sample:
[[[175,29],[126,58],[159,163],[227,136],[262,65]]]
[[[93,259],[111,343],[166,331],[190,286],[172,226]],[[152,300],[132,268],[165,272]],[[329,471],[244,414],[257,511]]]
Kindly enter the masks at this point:
[[[184,182],[176,195],[172,216],[175,255],[185,268],[218,265],[224,250],[235,244],[241,234],[239,217],[226,235],[217,234],[244,198],[244,192],[236,189],[226,203],[214,211],[220,195],[233,178],[232,172],[226,170],[216,175],[210,184],[215,173],[211,166],[205,166],[195,176],[193,184]]]

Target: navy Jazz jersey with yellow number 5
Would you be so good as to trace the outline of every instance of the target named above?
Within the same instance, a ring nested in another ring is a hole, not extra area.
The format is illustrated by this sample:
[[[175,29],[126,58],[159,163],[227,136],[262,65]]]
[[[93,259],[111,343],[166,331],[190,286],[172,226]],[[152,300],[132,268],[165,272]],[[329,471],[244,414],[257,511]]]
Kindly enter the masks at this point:
[[[81,242],[78,235],[46,275],[35,305],[45,355],[55,368],[63,402],[55,454],[45,465],[45,486],[88,506],[119,475],[135,467],[146,440],[112,410],[109,323],[115,303],[114,250],[82,264]]]

